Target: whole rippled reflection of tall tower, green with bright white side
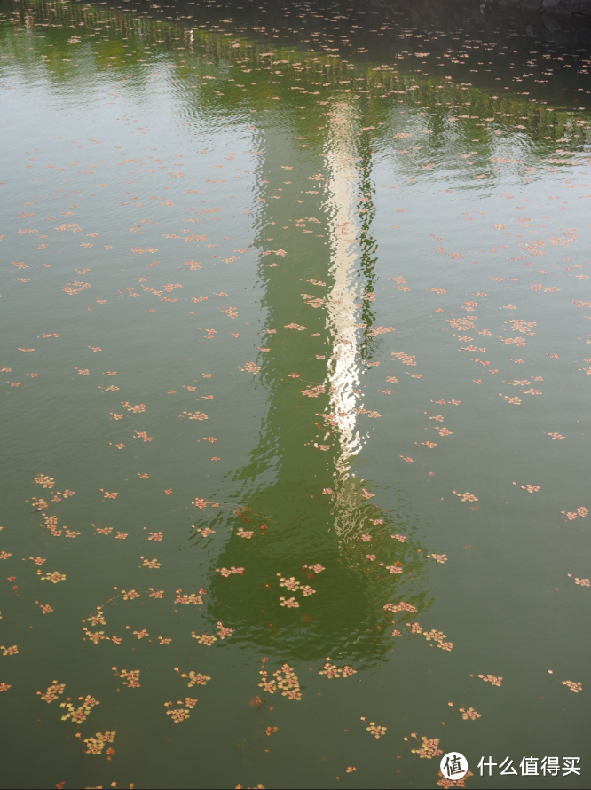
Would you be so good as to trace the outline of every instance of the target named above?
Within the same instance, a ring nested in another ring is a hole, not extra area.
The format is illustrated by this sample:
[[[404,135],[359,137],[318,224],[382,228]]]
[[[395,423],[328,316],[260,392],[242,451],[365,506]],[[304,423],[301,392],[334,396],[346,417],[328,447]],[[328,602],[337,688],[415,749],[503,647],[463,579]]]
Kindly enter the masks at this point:
[[[290,202],[284,193],[279,201],[261,203],[256,218],[264,251],[287,251],[286,257],[266,255],[260,263],[266,326],[276,331],[267,336],[271,351],[257,362],[256,386],[265,388],[268,411],[249,464],[234,476],[240,481],[234,500],[240,510],[228,517],[225,510],[215,519],[254,534],[249,539],[232,534],[217,558],[220,568],[234,565],[245,573],[239,578],[214,574],[209,614],[282,660],[327,654],[375,660],[387,647],[383,635],[391,615],[384,604],[411,596],[415,606],[424,608],[424,593],[413,595],[408,575],[421,570],[422,561],[416,559],[421,555],[407,542],[390,539],[390,517],[371,504],[374,494],[362,487],[363,481],[349,474],[351,455],[362,446],[355,390],[365,327],[358,320],[357,297],[364,275],[359,245],[351,243],[361,225],[351,142],[355,120],[350,107],[338,112],[340,120],[331,125],[327,141],[328,174],[322,174],[327,199],[314,198],[322,202],[312,209],[311,200]],[[318,167],[316,157],[291,145],[293,132],[270,125],[262,134],[260,181],[274,187],[285,178],[281,164],[289,162],[291,194],[297,190],[305,197],[309,179],[319,175],[311,170]],[[307,304],[311,300],[303,299],[303,291],[316,296],[319,288],[325,294],[322,303]],[[329,486],[332,493],[323,494]],[[407,532],[407,525],[398,526]],[[367,558],[370,552],[377,555],[374,562]],[[311,566],[316,564],[325,570],[315,573]],[[281,587],[280,577],[295,577],[316,592],[304,596]],[[293,597],[299,605],[281,606],[280,596]]]

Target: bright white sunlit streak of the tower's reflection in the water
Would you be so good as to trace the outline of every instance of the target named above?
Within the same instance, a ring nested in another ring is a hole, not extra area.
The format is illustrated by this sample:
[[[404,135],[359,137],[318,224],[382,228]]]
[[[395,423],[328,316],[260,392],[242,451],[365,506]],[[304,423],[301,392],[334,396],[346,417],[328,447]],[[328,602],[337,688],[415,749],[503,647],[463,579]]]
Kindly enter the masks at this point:
[[[330,273],[335,285],[327,295],[328,322],[335,333],[333,353],[328,363],[331,385],[331,411],[338,426],[341,453],[335,460],[339,477],[347,478],[349,458],[361,449],[357,428],[356,397],[359,385],[356,362],[358,336],[355,328],[355,292],[358,288],[355,266],[359,257],[356,238],[356,196],[358,171],[354,160],[357,153],[353,144],[355,120],[352,107],[342,107],[331,116],[332,136],[327,147],[327,164],[332,172],[328,180],[331,197],[328,231],[332,255]]]

